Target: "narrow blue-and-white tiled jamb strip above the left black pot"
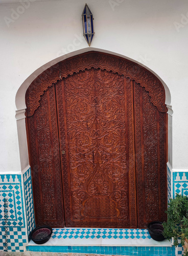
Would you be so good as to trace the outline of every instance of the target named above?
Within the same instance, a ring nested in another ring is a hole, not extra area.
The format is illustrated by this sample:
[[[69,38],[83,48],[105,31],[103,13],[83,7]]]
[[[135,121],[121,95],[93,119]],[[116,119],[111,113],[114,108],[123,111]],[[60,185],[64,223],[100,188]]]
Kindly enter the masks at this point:
[[[27,215],[28,235],[29,235],[30,232],[35,228],[31,168],[29,168],[27,172],[23,174],[23,182],[24,182],[24,188],[25,188],[26,215]]]

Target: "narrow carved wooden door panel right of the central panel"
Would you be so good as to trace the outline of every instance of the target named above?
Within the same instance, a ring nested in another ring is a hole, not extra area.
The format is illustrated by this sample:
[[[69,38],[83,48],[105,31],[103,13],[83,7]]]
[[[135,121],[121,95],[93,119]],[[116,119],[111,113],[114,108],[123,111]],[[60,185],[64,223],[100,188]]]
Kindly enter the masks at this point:
[[[166,113],[133,81],[138,227],[166,220]]]

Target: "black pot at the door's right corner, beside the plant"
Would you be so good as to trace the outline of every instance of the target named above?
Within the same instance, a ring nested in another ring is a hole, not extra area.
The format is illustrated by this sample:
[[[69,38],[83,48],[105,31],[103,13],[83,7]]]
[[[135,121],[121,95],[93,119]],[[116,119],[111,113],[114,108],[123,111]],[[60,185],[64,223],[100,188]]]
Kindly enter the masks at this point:
[[[155,241],[163,241],[165,240],[165,237],[163,236],[163,226],[162,222],[160,221],[153,221],[148,224],[148,231],[150,233],[150,236]]]

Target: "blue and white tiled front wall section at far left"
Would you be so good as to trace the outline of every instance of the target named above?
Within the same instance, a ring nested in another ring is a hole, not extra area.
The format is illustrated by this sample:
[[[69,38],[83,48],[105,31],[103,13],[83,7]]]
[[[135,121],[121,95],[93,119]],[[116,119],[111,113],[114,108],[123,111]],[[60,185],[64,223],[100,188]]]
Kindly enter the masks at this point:
[[[0,175],[0,250],[24,250],[27,245],[24,210],[21,174]]]

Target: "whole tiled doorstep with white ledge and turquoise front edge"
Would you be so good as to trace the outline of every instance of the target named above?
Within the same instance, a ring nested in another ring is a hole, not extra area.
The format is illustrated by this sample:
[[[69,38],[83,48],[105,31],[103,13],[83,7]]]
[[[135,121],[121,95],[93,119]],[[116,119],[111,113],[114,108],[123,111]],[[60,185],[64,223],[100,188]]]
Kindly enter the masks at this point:
[[[119,255],[175,255],[171,242],[151,239],[147,229],[53,228],[48,242],[28,244],[30,251]]]

